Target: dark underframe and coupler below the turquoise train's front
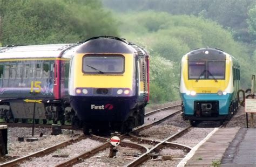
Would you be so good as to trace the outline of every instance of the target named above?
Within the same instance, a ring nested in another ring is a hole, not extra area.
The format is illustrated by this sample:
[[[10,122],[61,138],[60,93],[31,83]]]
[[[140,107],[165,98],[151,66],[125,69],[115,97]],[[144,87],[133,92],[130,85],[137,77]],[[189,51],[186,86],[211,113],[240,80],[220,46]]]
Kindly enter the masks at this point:
[[[197,121],[224,121],[230,120],[237,112],[238,100],[231,102],[227,114],[219,114],[219,101],[194,101],[193,114],[186,114],[184,103],[182,102],[182,115],[184,120],[190,120],[193,125]]]

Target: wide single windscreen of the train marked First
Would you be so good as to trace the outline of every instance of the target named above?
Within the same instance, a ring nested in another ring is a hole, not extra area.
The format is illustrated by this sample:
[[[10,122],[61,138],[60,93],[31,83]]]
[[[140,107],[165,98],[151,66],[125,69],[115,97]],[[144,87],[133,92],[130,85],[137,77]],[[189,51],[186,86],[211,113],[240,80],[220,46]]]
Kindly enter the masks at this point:
[[[122,74],[124,73],[123,55],[85,55],[83,72],[90,74]]]

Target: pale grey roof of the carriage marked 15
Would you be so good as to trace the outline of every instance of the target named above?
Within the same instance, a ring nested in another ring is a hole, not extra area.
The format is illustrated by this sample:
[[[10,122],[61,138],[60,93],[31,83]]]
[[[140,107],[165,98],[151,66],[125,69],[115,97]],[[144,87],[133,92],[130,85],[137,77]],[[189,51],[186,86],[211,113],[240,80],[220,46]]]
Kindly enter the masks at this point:
[[[50,44],[0,47],[0,59],[71,58],[72,53],[78,45]]]

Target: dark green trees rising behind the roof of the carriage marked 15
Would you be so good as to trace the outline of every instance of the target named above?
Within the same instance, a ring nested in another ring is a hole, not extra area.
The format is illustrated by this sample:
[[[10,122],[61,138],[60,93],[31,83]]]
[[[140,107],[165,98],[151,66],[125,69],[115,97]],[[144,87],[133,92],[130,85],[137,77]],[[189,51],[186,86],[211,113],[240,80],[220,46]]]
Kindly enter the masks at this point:
[[[111,13],[98,4],[99,1],[3,0],[3,44],[71,43],[92,36],[117,35]]]

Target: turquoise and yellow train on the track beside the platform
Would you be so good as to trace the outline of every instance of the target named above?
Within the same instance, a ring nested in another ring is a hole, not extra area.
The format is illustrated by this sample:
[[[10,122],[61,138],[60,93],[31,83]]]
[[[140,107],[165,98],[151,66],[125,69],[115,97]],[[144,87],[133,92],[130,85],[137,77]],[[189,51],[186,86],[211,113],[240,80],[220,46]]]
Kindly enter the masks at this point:
[[[240,67],[230,54],[201,48],[181,60],[180,95],[185,120],[229,120],[238,109]]]

